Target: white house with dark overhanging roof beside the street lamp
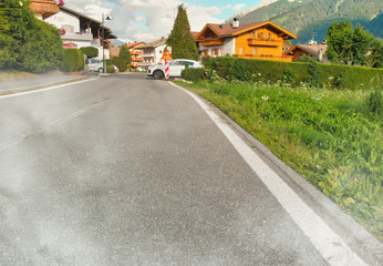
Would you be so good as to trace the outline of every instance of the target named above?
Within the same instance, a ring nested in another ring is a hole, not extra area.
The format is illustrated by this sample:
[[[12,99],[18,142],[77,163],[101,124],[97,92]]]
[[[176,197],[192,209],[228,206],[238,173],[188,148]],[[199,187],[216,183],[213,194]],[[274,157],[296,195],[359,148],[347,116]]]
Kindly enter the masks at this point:
[[[102,22],[79,13],[72,9],[60,7],[60,11],[45,19],[61,30],[61,39],[64,47],[94,47],[99,49],[99,58],[102,58],[103,42],[105,58],[110,58],[110,41],[116,39],[112,30],[104,27],[104,39],[102,38]]]

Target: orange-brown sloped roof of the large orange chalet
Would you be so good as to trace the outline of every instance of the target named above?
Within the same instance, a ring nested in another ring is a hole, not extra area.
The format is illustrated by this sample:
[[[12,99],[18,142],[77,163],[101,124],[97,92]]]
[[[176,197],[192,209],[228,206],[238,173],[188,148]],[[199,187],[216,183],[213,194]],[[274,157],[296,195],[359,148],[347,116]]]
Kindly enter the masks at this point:
[[[205,25],[205,28],[199,32],[196,39],[199,39],[203,33],[207,30],[210,29],[213,30],[219,38],[226,38],[226,37],[236,37],[241,33],[245,33],[247,31],[255,30],[260,27],[271,27],[276,31],[279,31],[283,33],[287,38],[286,39],[297,39],[294,34],[291,32],[282,29],[281,27],[275,24],[271,21],[259,21],[259,22],[253,22],[253,23],[247,23],[247,24],[240,24],[238,28],[232,28],[230,24],[213,24],[208,23]]]

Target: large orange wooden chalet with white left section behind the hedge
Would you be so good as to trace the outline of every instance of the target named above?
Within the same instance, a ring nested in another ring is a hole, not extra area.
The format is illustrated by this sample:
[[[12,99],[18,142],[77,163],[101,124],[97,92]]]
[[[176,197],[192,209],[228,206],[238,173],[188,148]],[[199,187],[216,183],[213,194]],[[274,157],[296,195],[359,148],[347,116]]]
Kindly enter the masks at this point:
[[[271,21],[248,24],[206,24],[196,37],[203,57],[235,55],[247,59],[266,59],[291,62],[283,54],[284,40],[297,39]]]

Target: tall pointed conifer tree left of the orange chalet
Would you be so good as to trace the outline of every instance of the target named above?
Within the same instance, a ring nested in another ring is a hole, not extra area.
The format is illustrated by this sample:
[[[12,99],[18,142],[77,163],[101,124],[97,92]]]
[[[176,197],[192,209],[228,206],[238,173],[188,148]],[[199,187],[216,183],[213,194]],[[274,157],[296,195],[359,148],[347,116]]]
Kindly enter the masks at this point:
[[[178,6],[178,14],[166,44],[172,47],[172,57],[174,59],[199,59],[184,4]]]

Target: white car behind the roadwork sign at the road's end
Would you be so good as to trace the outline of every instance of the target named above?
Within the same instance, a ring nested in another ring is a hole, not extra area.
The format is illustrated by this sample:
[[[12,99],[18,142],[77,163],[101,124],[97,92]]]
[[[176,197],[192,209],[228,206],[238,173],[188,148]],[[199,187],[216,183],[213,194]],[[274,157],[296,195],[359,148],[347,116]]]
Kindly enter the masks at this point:
[[[195,60],[188,59],[176,59],[169,62],[169,74],[172,78],[180,76],[183,70],[188,65],[188,68],[204,68],[203,64]],[[147,69],[146,74],[153,76],[156,80],[162,80],[165,78],[165,64],[152,65]]]

